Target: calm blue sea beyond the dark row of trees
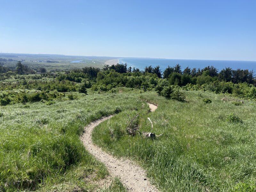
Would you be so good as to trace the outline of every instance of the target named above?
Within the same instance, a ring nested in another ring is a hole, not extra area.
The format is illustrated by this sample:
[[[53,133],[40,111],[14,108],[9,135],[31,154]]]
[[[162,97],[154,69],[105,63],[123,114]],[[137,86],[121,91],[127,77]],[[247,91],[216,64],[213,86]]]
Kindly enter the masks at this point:
[[[156,67],[160,66],[163,71],[165,68],[175,66],[180,64],[182,70],[187,66],[189,68],[200,68],[203,69],[207,66],[213,66],[219,71],[225,67],[230,67],[232,69],[249,69],[256,70],[256,61],[228,61],[228,60],[182,60],[182,59],[145,59],[145,58],[121,58],[119,63],[126,63],[128,67],[136,67],[140,70],[144,70],[146,66]]]

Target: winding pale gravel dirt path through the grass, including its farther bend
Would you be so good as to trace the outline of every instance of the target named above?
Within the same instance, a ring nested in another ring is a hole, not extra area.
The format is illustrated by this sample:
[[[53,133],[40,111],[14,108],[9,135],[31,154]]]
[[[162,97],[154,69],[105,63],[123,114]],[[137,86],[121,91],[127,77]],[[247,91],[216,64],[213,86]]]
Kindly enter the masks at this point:
[[[157,106],[152,105],[153,104],[149,104],[149,108],[151,111],[155,111]],[[81,136],[84,146],[92,155],[106,165],[108,172],[112,177],[118,177],[121,180],[121,182],[127,187],[127,191],[158,192],[156,187],[153,186],[146,177],[145,170],[140,166],[133,164],[129,159],[117,159],[92,144],[93,128],[111,117],[112,116],[103,117],[84,128],[84,134]]]

